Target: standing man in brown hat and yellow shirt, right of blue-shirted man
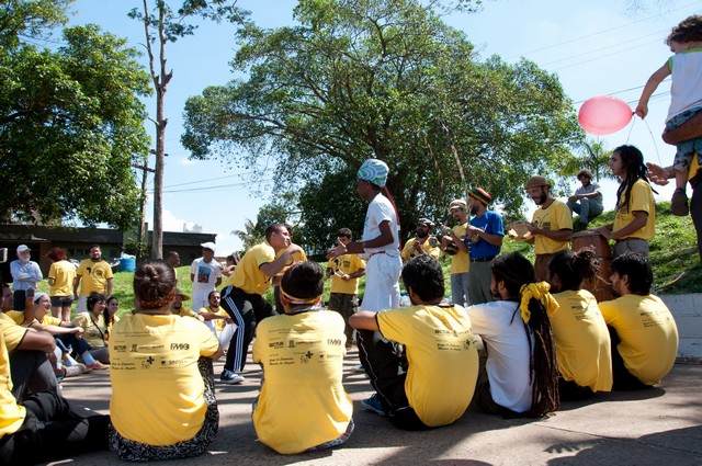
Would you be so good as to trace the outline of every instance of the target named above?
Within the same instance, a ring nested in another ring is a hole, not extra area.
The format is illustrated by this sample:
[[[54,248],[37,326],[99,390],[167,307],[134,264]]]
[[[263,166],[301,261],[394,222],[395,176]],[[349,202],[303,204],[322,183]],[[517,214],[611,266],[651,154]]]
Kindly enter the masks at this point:
[[[536,281],[543,282],[548,279],[551,258],[568,249],[573,214],[566,204],[553,197],[551,183],[544,177],[531,177],[526,182],[526,194],[539,206],[531,224],[525,224],[525,227],[532,235],[526,241],[534,243]]]

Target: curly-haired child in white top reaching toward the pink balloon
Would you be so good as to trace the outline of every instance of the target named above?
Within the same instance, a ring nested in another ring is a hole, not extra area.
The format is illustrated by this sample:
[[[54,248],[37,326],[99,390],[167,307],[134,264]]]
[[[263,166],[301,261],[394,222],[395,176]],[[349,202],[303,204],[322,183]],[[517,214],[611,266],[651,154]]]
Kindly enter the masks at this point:
[[[642,91],[636,115],[644,118],[648,113],[648,99],[658,84],[671,76],[670,107],[666,129],[673,129],[702,112],[702,15],[692,15],[675,26],[666,44],[675,53],[656,72]],[[684,192],[688,183],[688,170],[692,157],[702,158],[702,137],[686,140],[677,145],[673,162],[676,171],[676,191],[670,202],[675,215],[689,213],[688,196]]]

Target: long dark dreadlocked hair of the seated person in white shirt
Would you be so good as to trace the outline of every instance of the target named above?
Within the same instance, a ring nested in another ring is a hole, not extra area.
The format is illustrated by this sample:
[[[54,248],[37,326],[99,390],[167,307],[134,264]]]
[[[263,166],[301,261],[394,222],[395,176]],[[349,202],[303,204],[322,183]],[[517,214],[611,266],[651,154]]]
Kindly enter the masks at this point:
[[[500,255],[492,262],[492,277],[496,283],[502,282],[510,300],[521,303],[523,285],[535,283],[534,266],[519,252]],[[551,334],[551,322],[546,308],[541,300],[529,300],[530,318],[522,319],[529,342],[529,376],[532,385],[531,408],[524,413],[530,418],[541,418],[558,409],[558,367]],[[512,320],[520,311],[514,309]],[[532,341],[533,340],[533,341]]]

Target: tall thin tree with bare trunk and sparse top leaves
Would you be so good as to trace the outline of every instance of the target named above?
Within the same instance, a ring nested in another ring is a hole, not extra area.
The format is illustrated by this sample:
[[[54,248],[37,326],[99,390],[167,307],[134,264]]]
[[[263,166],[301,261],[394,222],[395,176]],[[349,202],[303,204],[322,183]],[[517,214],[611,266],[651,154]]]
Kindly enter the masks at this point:
[[[236,0],[184,0],[178,10],[173,10],[166,0],[156,0],[149,7],[148,0],[141,0],[141,9],[134,8],[128,16],[144,25],[145,47],[148,54],[149,72],[156,91],[156,171],[154,173],[154,239],[151,255],[163,258],[163,221],[162,193],[163,170],[166,167],[166,117],[163,107],[168,84],[173,78],[173,70],[168,69],[166,47],[181,37],[194,34],[197,27],[189,20],[194,16],[238,23],[244,20],[245,12],[236,8]],[[158,56],[155,56],[158,48]],[[158,60],[158,61],[157,61]]]

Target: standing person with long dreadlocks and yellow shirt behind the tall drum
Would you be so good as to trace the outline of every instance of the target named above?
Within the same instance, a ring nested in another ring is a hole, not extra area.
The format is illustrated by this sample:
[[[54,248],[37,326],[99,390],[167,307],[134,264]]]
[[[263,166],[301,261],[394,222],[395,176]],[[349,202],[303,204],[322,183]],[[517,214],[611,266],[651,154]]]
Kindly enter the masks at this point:
[[[656,232],[656,202],[646,178],[644,155],[634,146],[620,146],[610,157],[610,169],[621,183],[616,190],[614,224],[598,228],[613,239],[614,258],[625,252],[648,257],[648,241]]]

